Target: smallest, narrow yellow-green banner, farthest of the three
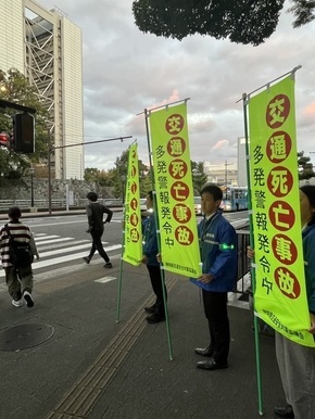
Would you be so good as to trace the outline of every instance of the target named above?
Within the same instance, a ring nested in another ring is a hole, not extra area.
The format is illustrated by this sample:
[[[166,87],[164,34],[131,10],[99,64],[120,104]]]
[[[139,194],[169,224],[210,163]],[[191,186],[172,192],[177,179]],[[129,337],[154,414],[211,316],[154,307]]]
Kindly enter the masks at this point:
[[[137,143],[129,148],[125,196],[123,259],[138,266],[142,259],[142,228]]]

